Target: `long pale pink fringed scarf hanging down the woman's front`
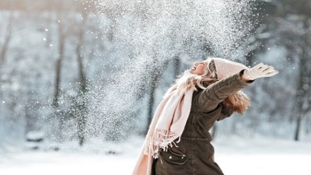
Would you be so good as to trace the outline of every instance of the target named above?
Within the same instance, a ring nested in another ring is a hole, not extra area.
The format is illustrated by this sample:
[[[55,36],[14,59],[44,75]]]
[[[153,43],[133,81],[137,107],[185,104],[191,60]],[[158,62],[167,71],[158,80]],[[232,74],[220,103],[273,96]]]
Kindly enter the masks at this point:
[[[184,131],[190,114],[194,88],[178,94],[173,90],[155,110],[146,139],[140,152],[133,175],[151,175],[153,158],[158,157],[158,151],[168,146],[176,146],[173,140],[179,138]]]

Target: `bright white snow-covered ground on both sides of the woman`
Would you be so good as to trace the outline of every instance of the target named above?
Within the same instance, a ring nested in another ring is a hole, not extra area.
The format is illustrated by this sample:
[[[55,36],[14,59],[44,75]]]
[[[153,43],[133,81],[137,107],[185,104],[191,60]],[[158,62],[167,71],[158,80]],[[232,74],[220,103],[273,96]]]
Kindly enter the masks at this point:
[[[115,148],[107,155],[86,146],[83,151],[17,151],[0,156],[0,175],[130,175],[142,139]],[[213,140],[215,161],[225,175],[311,175],[311,142],[267,138]]]

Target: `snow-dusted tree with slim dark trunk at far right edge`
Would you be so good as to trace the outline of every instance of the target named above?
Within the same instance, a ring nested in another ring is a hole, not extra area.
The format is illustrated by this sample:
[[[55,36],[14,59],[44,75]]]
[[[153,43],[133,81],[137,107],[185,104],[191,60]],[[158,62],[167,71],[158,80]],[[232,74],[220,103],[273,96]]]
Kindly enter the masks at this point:
[[[288,15],[278,18],[278,23],[280,27],[276,33],[279,40],[298,65],[292,116],[296,123],[294,140],[299,140],[301,121],[311,111],[311,19],[305,15]]]

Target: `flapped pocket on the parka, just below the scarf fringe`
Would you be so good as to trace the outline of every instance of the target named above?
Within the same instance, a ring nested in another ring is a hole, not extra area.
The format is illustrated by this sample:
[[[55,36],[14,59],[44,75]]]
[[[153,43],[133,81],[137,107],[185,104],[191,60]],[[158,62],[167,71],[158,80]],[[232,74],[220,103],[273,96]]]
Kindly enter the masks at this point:
[[[168,151],[160,152],[160,157],[168,162],[178,165],[183,165],[189,160],[185,154],[175,153],[170,148],[168,148]]]

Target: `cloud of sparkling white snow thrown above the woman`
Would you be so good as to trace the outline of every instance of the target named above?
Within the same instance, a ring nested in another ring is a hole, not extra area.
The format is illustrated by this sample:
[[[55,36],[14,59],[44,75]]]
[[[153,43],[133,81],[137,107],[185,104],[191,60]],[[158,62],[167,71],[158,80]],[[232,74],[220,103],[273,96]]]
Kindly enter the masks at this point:
[[[241,56],[237,48],[252,28],[250,0],[98,0],[96,4],[104,14],[103,26],[108,26],[103,29],[113,34],[116,54],[107,81],[97,82],[90,91],[87,122],[89,133],[110,140],[141,128],[135,119],[147,107],[142,97],[150,88],[150,77],[160,75],[173,57],[193,57],[205,50],[236,59]]]

